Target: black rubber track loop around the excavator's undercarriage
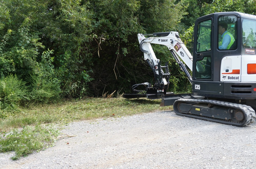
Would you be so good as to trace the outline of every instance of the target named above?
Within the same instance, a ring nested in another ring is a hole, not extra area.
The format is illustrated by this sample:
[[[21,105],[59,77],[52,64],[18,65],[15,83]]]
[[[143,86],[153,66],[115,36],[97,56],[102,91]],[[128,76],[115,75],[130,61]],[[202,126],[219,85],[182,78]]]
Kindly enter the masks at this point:
[[[244,112],[245,119],[243,122],[238,122],[236,120],[234,121],[233,119],[223,120],[223,119],[217,119],[217,118],[212,118],[212,117],[207,117],[207,116],[199,116],[199,115],[182,113],[179,111],[179,108],[178,108],[178,103],[180,103],[180,102],[186,102],[186,103],[189,102],[188,104],[193,104],[193,103],[209,104],[210,103],[213,105],[219,105],[219,106],[225,106],[225,107],[229,107],[229,108],[240,109],[241,111]],[[255,111],[250,106],[236,104],[236,103],[216,101],[216,100],[201,100],[201,99],[186,99],[186,98],[183,99],[182,98],[182,99],[176,100],[174,102],[173,110],[177,115],[180,115],[180,116],[186,116],[186,117],[207,120],[207,121],[212,121],[212,122],[217,122],[217,123],[222,123],[222,124],[234,125],[234,126],[239,126],[239,127],[253,123],[256,118]]]

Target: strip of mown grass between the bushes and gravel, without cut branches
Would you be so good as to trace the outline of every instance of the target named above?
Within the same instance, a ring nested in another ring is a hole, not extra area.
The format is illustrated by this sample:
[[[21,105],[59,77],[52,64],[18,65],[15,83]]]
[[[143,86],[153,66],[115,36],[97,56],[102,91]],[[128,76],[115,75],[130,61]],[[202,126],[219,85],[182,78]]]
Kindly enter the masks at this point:
[[[124,98],[85,98],[68,100],[58,104],[36,105],[20,108],[18,112],[9,114],[0,121],[0,131],[9,131],[37,123],[67,124],[71,121],[95,118],[121,117],[170,110],[172,106],[159,107],[161,100],[124,99]]]

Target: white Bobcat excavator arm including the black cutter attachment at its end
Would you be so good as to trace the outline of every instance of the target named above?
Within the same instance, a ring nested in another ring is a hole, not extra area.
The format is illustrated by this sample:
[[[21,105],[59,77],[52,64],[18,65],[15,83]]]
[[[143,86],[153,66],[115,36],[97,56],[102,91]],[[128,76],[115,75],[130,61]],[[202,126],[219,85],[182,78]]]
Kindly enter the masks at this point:
[[[172,95],[172,97],[175,96],[173,92],[166,92],[166,90],[169,87],[170,77],[168,62],[166,62],[164,66],[161,66],[161,61],[156,58],[156,55],[152,49],[151,44],[165,45],[171,52],[180,69],[183,72],[185,72],[190,83],[192,83],[192,77],[186,66],[188,66],[188,68],[192,70],[193,58],[188,49],[186,48],[186,46],[184,45],[184,43],[182,42],[182,40],[179,38],[178,32],[138,34],[138,41],[140,43],[140,49],[144,53],[144,60],[148,63],[154,74],[155,83],[151,85],[148,82],[145,82],[133,85],[132,90],[136,92],[136,94],[125,94],[123,97],[147,97],[150,99],[163,99],[163,97],[168,97],[170,95]],[[185,64],[180,60],[180,58]],[[140,85],[144,85],[146,87],[146,90],[137,90],[138,86]],[[185,98],[191,97],[193,97],[191,96],[191,94],[185,94]],[[175,99],[178,98],[180,98],[180,96],[178,96]]]

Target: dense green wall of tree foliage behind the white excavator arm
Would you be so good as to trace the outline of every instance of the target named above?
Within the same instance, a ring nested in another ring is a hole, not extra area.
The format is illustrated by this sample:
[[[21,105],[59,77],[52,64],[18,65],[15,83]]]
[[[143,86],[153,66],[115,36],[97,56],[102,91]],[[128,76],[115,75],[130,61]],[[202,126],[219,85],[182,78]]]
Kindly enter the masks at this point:
[[[1,0],[0,78],[22,84],[27,91],[23,103],[129,93],[135,83],[153,82],[138,33],[178,31],[190,48],[198,17],[220,11],[254,14],[253,4],[255,0]],[[184,90],[189,82],[168,50],[153,47],[158,59],[169,62],[170,90]]]

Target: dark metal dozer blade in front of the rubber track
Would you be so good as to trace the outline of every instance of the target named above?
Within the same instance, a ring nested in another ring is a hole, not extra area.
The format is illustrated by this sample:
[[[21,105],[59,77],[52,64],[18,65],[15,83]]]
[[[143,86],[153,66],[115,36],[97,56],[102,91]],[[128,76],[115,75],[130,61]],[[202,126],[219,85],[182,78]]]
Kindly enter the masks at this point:
[[[173,103],[180,98],[203,99],[204,97],[194,95],[193,93],[162,95],[162,102],[160,106],[172,106]]]

